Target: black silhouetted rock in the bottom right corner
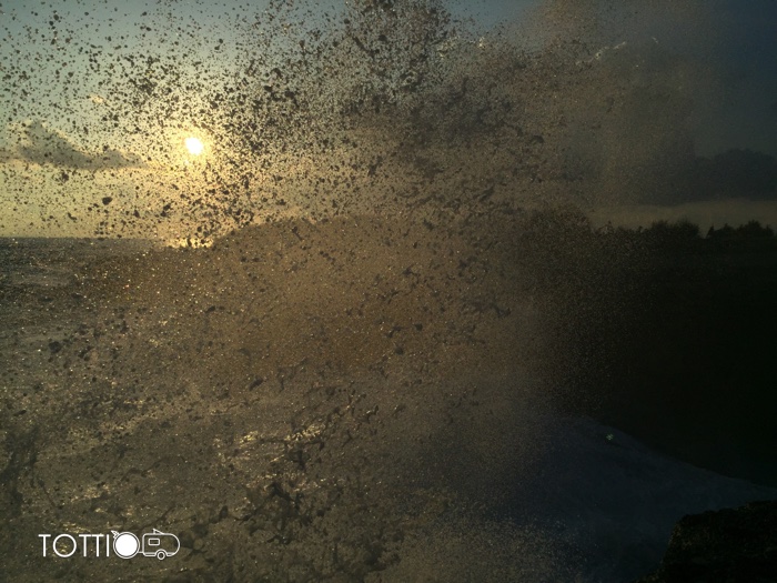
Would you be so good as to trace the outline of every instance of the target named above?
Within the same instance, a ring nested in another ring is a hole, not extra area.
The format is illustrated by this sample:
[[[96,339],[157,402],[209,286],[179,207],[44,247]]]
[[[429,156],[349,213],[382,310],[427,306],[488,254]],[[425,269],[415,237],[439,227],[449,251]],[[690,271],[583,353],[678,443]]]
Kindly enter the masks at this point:
[[[660,566],[635,583],[777,582],[777,501],[683,517]]]

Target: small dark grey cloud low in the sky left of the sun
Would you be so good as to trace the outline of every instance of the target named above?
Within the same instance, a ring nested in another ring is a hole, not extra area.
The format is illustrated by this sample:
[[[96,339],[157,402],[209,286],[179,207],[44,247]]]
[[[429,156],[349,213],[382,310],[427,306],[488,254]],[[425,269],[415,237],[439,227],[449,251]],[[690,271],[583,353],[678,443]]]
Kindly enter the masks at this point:
[[[0,149],[0,162],[22,160],[37,164],[51,164],[74,170],[110,170],[140,168],[140,157],[103,147],[100,153],[78,149],[65,135],[33,121],[20,130],[18,145]]]

